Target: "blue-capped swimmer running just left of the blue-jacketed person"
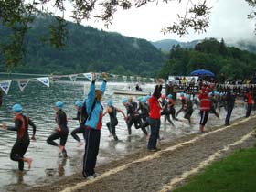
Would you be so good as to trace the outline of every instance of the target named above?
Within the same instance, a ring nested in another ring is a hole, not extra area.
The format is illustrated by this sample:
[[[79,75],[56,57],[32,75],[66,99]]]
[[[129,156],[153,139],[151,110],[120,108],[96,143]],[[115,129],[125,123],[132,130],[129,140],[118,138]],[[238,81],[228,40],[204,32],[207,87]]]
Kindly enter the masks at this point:
[[[78,147],[81,146],[83,144],[83,142],[80,141],[80,137],[77,135],[78,133],[84,133],[85,132],[85,126],[84,123],[87,119],[87,112],[85,109],[85,103],[82,101],[76,101],[75,102],[75,106],[76,106],[76,110],[77,112],[77,117],[75,118],[71,118],[72,120],[78,120],[80,123],[80,126],[76,129],[74,129],[71,132],[72,137],[78,141]]]

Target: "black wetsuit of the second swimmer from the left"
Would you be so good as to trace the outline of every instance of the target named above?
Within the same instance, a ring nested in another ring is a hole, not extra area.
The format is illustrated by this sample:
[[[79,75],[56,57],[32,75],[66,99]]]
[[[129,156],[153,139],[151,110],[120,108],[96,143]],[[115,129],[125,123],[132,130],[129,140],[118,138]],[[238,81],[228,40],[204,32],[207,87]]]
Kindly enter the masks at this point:
[[[56,113],[56,118],[55,118],[56,123],[59,125],[60,127],[60,131],[57,131],[55,133],[52,133],[48,139],[47,142],[48,144],[54,145],[54,146],[65,146],[67,139],[68,139],[68,135],[69,135],[69,128],[67,126],[68,121],[67,121],[67,115],[65,112],[63,112],[62,110],[59,110]],[[56,142],[54,142],[53,140],[59,139],[60,138],[60,142],[59,144],[57,144]],[[64,148],[62,151],[62,154],[64,156],[67,156],[67,152],[66,149]]]

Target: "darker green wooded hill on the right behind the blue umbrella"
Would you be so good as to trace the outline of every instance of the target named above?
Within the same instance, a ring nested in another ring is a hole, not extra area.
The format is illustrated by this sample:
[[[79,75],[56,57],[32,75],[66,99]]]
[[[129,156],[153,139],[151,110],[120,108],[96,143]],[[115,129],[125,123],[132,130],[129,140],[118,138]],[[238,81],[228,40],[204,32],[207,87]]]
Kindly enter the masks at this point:
[[[189,75],[194,69],[208,69],[217,75],[224,73],[230,79],[251,78],[256,70],[256,55],[227,47],[223,40],[219,42],[209,38],[191,49],[173,46],[159,76],[167,78],[169,75]]]

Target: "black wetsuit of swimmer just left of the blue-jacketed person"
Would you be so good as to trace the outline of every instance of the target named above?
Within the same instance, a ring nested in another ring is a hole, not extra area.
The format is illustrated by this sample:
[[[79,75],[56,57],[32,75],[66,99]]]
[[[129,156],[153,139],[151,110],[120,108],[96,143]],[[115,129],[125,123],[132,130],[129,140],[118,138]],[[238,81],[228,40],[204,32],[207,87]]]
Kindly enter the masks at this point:
[[[84,103],[83,103],[84,104]],[[80,137],[77,135],[78,133],[84,133],[85,132],[85,121],[87,119],[87,113],[83,112],[83,108],[81,107],[78,112],[77,112],[77,117],[73,118],[73,120],[78,120],[80,123],[80,126],[76,129],[74,129],[71,132],[72,137],[77,140],[78,142],[80,142]]]

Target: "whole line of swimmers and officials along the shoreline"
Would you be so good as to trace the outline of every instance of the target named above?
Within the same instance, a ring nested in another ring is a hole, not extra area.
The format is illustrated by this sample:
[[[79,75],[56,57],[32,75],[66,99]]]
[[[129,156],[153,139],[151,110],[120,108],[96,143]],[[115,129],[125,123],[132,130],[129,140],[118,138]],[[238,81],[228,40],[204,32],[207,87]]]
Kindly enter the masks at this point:
[[[198,133],[205,133],[204,127],[208,122],[209,113],[219,118],[219,111],[221,108],[225,108],[227,111],[225,125],[228,126],[230,124],[230,116],[236,100],[236,94],[230,89],[226,92],[219,92],[215,91],[216,88],[210,83],[202,84],[197,95],[189,95],[182,92],[178,100],[175,101],[172,94],[165,95],[162,93],[163,80],[157,80],[155,91],[152,95],[140,97],[138,101],[133,101],[133,98],[130,97],[123,98],[122,103],[126,112],[115,107],[112,100],[107,101],[107,108],[103,112],[101,100],[107,85],[106,73],[102,73],[102,77],[101,87],[96,89],[96,77],[94,73],[92,74],[91,86],[84,101],[75,102],[77,110],[75,118],[67,117],[63,111],[64,103],[62,101],[55,103],[55,120],[58,127],[47,139],[48,144],[59,147],[59,155],[67,158],[68,153],[65,145],[69,136],[68,121],[77,120],[79,126],[70,134],[78,142],[78,146],[85,143],[82,175],[87,179],[93,179],[97,176],[94,169],[101,141],[102,118],[107,114],[109,114],[110,121],[106,125],[115,141],[119,140],[115,129],[118,124],[117,112],[121,112],[127,124],[129,135],[132,134],[132,127],[134,126],[135,129],[141,129],[147,137],[147,150],[149,152],[160,150],[157,147],[157,141],[160,138],[161,116],[164,116],[165,121],[168,121],[172,126],[176,126],[175,122],[181,121],[180,114],[183,113],[183,117],[191,125],[191,116],[194,112],[194,106],[197,105],[200,111]],[[252,107],[250,89],[247,91],[245,98],[247,102],[245,117],[249,117]],[[177,112],[176,102],[180,105],[180,109]],[[18,162],[18,168],[22,172],[24,170],[24,162],[27,163],[28,168],[32,164],[32,159],[25,157],[30,142],[28,125],[33,127],[33,135],[31,137],[33,140],[36,139],[37,127],[30,118],[22,113],[22,106],[20,104],[13,106],[13,112],[15,113],[15,126],[12,127],[2,123],[2,127],[6,130],[16,131],[16,143],[11,150],[10,156],[13,161]],[[80,139],[79,133],[82,134],[84,143]],[[55,141],[57,139],[59,139],[59,144]]]

